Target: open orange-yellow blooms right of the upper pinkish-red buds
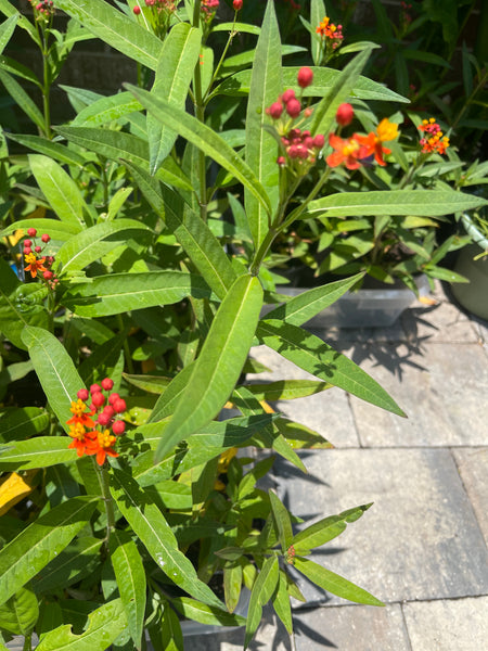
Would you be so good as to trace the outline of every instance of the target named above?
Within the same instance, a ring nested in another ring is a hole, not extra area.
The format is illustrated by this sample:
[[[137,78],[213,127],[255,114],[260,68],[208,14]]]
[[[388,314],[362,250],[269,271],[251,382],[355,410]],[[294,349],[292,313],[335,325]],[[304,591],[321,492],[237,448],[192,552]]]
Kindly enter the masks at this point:
[[[337,113],[339,113],[341,106]],[[329,144],[335,150],[326,157],[330,167],[337,167],[342,163],[347,169],[358,169],[361,164],[368,163],[374,157],[378,165],[385,166],[385,154],[391,150],[384,146],[384,142],[395,140],[398,136],[398,125],[390,123],[386,117],[378,124],[376,131],[368,136],[355,133],[350,138],[339,138],[335,133],[329,136]]]

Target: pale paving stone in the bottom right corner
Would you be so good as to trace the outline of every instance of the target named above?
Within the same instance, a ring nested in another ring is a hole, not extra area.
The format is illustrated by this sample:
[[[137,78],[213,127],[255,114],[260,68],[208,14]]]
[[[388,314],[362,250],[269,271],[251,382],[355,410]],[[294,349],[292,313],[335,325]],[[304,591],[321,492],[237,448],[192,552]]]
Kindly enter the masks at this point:
[[[488,597],[406,603],[412,651],[481,651],[488,643]]]

